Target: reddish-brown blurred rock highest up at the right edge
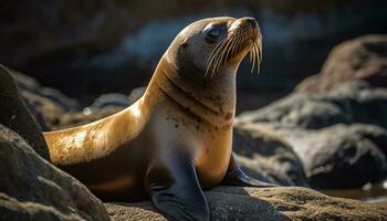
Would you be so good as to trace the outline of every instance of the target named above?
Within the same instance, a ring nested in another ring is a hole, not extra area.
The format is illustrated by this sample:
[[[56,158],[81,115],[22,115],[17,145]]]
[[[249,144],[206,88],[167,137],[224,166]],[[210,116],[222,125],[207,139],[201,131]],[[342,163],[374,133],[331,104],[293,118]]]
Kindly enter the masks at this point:
[[[348,81],[387,87],[387,35],[365,35],[338,44],[317,75],[301,82],[299,93],[325,93]]]

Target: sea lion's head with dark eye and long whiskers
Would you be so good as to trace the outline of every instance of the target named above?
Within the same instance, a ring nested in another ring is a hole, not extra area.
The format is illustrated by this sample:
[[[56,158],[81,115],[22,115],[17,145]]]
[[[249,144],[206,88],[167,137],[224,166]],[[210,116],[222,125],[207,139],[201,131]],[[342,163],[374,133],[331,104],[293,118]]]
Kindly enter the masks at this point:
[[[236,73],[250,52],[252,71],[259,70],[262,35],[253,18],[219,17],[199,20],[186,27],[166,53],[167,61],[179,73],[196,73],[212,78]]]

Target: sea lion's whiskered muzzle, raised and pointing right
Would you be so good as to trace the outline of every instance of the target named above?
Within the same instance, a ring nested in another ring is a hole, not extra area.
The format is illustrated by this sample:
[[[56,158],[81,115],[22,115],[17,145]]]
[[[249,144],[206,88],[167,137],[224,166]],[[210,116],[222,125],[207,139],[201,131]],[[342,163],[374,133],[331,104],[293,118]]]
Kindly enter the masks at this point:
[[[249,52],[250,63],[252,63],[251,72],[257,67],[259,73],[262,60],[261,30],[253,18],[238,19],[231,24],[227,36],[211,52],[206,76],[213,77],[222,65],[230,61],[240,62]]]

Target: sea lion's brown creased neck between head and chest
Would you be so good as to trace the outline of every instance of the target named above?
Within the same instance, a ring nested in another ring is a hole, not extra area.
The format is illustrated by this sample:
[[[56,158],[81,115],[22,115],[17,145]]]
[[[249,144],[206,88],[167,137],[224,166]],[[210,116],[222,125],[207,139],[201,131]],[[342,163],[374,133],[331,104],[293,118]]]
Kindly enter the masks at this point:
[[[236,109],[236,73],[222,73],[211,80],[194,73],[180,73],[163,56],[158,63],[144,102],[159,102],[158,94],[179,106],[184,112],[205,122],[230,125]]]

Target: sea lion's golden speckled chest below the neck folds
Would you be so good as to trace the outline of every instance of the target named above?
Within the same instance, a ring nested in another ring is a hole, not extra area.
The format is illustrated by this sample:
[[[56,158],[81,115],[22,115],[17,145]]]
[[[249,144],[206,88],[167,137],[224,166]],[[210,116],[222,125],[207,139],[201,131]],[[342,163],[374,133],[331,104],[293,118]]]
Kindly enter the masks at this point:
[[[232,124],[218,126],[185,116],[184,113],[170,113],[177,112],[168,112],[154,123],[158,130],[157,144],[168,144],[164,148],[179,148],[179,151],[194,154],[201,187],[209,189],[218,186],[230,162]]]

